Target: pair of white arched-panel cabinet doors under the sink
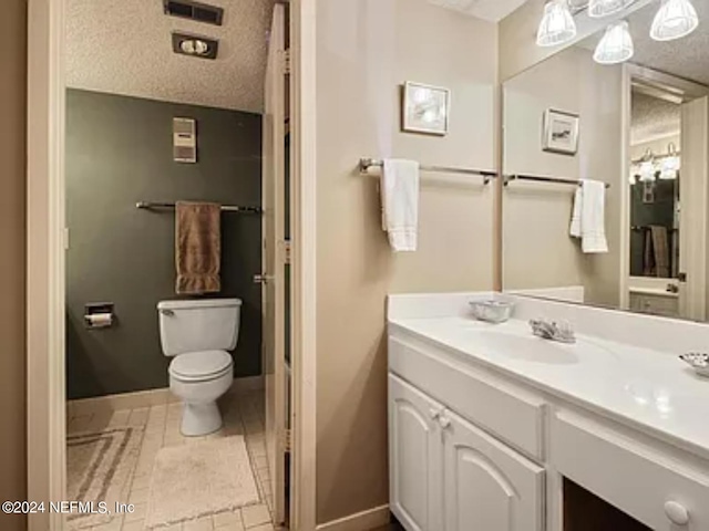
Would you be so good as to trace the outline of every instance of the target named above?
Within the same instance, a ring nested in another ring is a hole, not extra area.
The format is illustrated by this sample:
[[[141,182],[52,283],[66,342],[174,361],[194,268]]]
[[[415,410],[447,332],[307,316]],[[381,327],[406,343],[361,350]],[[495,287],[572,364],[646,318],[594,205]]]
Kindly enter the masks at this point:
[[[389,375],[390,507],[409,531],[541,531],[544,470]]]

